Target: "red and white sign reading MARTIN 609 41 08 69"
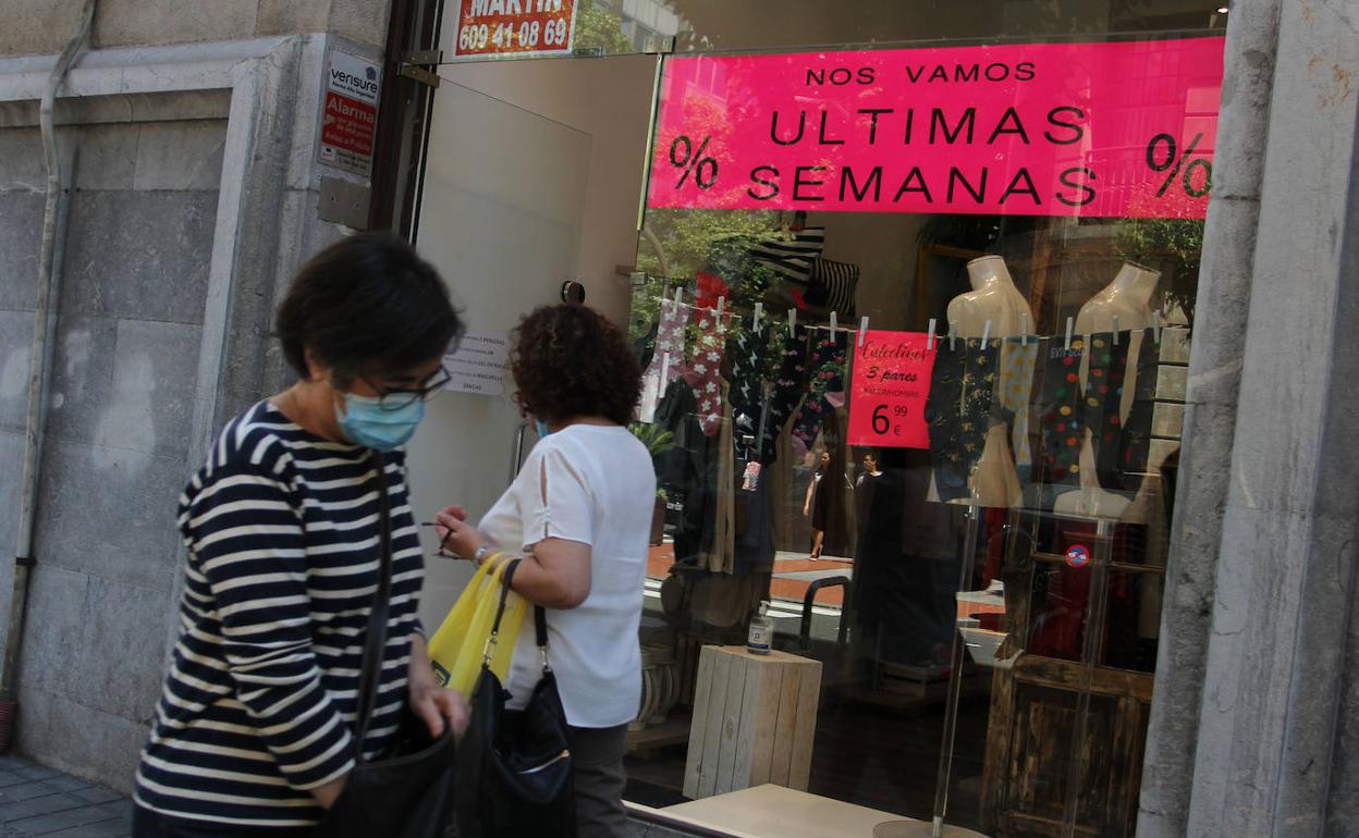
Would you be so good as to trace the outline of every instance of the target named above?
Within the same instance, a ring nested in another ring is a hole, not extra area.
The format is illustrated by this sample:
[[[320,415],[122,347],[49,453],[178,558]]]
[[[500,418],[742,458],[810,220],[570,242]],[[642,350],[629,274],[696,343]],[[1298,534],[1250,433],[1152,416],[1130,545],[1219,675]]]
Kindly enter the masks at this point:
[[[454,58],[564,56],[575,38],[576,0],[458,0]]]

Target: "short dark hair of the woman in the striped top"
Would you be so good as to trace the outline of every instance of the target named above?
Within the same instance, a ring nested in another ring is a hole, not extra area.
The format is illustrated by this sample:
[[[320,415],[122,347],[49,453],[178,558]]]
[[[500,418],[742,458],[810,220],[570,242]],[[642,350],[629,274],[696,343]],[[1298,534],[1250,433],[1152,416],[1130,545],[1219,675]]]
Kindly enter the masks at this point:
[[[307,350],[344,384],[447,352],[462,321],[434,265],[387,234],[348,236],[302,266],[279,306],[283,354],[307,378]]]

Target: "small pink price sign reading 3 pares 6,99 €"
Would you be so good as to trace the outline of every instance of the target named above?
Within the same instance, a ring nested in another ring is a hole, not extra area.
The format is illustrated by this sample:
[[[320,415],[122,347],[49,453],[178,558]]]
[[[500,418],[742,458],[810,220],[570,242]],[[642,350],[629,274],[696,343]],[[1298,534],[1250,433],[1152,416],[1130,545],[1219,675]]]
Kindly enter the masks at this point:
[[[934,349],[923,331],[867,331],[849,380],[849,444],[928,448]]]

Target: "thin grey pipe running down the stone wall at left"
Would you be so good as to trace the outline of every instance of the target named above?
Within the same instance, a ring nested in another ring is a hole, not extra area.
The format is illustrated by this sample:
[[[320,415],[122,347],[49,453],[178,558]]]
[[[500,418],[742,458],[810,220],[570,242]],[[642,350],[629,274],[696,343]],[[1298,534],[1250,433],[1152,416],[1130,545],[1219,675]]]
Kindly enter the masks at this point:
[[[4,671],[0,672],[0,752],[10,750],[18,712],[19,648],[23,644],[23,611],[29,599],[29,575],[33,557],[33,531],[38,519],[38,486],[42,481],[42,445],[46,440],[48,406],[52,390],[52,360],[56,354],[57,289],[61,258],[65,251],[65,189],[57,158],[57,132],[53,109],[57,88],[90,41],[95,0],[86,0],[75,33],[48,76],[38,109],[42,155],[48,170],[46,206],[42,216],[42,250],[38,257],[38,307],[33,319],[33,350],[29,356],[29,417],[23,447],[22,494],[19,500],[19,538],[15,545],[14,587],[10,599],[10,623],[4,638]]]

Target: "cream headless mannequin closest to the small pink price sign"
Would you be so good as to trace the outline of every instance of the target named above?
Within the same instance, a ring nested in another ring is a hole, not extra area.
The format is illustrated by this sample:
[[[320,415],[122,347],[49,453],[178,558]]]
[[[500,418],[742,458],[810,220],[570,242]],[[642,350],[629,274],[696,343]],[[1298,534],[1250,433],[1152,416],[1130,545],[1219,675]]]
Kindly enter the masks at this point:
[[[991,337],[1007,338],[1023,333],[1026,316],[1033,321],[1029,302],[1015,288],[1003,258],[981,257],[968,262],[968,280],[973,291],[949,303],[949,322],[957,323],[958,337],[981,338],[989,321]],[[972,498],[959,503],[978,507],[1019,507],[1023,503],[1004,422],[987,429],[987,443],[972,474]]]

